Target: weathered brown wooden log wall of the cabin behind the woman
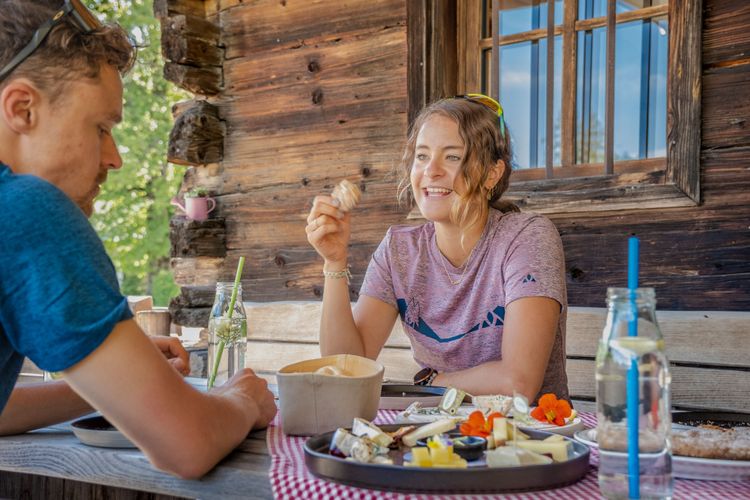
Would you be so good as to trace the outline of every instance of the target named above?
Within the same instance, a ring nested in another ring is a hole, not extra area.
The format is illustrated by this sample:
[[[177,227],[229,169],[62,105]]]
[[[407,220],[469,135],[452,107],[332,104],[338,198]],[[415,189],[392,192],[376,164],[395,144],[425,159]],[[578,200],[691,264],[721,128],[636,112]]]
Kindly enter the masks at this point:
[[[220,33],[221,74],[212,60],[204,67],[183,61],[186,68],[172,71],[182,76],[172,79],[211,81],[199,98],[218,110],[223,159],[193,151],[186,161],[199,166],[188,169],[184,188],[209,187],[218,208],[213,222],[173,220],[173,267],[182,287],[172,305],[177,321],[206,324],[213,284],[231,280],[242,255],[245,300],[319,300],[322,261],[307,243],[305,218],[313,197],[342,178],[364,191],[352,223],[356,299],[386,229],[407,222],[393,174],[407,133],[406,2],[211,0],[205,6]],[[565,246],[571,305],[602,306],[607,286],[625,284],[626,237],[636,234],[641,283],[656,288],[660,309],[750,309],[750,6],[744,0],[705,0],[702,57],[701,205],[551,216]],[[193,85],[198,93],[200,87]],[[191,153],[173,156],[180,155]]]

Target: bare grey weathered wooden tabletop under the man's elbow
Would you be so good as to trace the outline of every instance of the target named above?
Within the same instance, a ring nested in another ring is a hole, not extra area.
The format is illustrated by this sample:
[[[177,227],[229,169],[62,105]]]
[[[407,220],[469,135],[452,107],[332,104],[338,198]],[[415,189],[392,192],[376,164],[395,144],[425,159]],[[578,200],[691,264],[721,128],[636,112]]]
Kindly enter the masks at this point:
[[[91,486],[94,484],[104,485],[107,490],[137,490],[118,492],[116,498],[144,498],[138,492],[189,498],[273,498],[268,481],[270,465],[266,432],[257,431],[200,480],[183,480],[154,469],[136,449],[86,446],[73,435],[67,423],[0,438],[0,497],[18,497],[19,489],[29,488],[30,484],[36,484],[37,490],[31,492],[32,498],[57,496],[54,492],[38,491],[42,488],[64,488],[68,492],[73,489],[81,493],[100,491],[101,488]],[[65,481],[40,481],[27,475]],[[88,484],[67,484],[70,481]],[[59,498],[65,497],[69,495],[60,492]]]

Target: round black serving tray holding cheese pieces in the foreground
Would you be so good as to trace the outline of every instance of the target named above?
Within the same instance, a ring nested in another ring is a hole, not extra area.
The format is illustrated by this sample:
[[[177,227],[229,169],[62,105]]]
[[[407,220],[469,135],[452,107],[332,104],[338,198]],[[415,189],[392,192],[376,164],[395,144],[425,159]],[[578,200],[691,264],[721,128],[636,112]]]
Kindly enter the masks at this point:
[[[401,425],[382,425],[392,432]],[[527,431],[532,438],[544,439],[551,434]],[[403,492],[503,493],[558,488],[580,480],[589,471],[589,447],[572,442],[573,457],[567,462],[522,467],[438,469],[407,467],[405,451],[392,450],[394,465],[363,464],[328,453],[333,432],[309,438],[305,442],[305,464],[317,477],[362,488]]]

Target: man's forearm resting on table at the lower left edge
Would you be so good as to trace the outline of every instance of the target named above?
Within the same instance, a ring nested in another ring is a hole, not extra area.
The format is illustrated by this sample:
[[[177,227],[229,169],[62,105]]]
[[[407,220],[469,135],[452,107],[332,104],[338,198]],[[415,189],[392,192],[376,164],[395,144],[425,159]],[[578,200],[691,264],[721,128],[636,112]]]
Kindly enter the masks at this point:
[[[19,384],[0,414],[0,435],[20,434],[92,411],[93,408],[63,381]]]

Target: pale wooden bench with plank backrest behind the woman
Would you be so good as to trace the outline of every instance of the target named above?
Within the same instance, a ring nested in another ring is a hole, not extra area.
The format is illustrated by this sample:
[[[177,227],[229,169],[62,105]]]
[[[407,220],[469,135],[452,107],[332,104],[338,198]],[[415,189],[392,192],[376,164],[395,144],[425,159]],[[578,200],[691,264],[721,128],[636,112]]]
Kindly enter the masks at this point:
[[[289,363],[320,356],[320,302],[246,303],[247,366],[269,382]],[[594,401],[594,358],[604,308],[571,307],[567,371],[571,396]],[[657,311],[672,370],[672,404],[679,408],[750,413],[750,313]],[[419,366],[397,321],[378,361],[390,382],[411,383]]]

